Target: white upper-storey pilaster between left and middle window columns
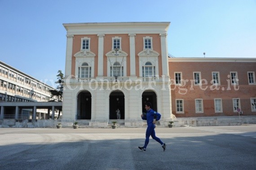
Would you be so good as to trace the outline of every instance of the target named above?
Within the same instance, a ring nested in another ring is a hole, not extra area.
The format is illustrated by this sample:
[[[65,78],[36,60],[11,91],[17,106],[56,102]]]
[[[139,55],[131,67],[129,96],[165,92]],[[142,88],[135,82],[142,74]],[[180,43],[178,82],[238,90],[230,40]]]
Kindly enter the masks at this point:
[[[105,34],[98,34],[98,75],[103,76],[103,52],[104,52],[104,36]]]

